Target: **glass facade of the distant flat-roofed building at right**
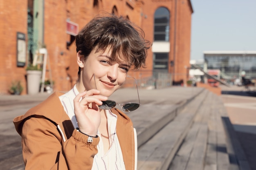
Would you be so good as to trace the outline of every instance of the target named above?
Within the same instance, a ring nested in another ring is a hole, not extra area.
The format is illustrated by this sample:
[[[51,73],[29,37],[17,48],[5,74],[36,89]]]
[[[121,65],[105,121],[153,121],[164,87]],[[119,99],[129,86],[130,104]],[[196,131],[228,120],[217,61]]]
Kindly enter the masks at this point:
[[[204,53],[207,69],[219,69],[223,79],[241,77],[256,77],[256,53]]]

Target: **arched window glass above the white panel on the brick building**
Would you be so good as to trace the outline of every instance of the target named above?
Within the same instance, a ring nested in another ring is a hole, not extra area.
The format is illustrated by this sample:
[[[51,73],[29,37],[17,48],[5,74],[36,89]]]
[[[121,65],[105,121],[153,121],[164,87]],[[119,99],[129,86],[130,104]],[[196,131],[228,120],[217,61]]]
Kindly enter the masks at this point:
[[[154,15],[154,41],[169,41],[170,12],[160,7]]]

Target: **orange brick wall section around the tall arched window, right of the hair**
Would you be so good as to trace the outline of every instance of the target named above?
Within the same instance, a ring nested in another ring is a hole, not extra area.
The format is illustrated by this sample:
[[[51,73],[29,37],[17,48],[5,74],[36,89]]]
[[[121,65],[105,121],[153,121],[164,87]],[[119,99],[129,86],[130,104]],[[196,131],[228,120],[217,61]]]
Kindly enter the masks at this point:
[[[153,42],[154,13],[157,8],[166,7],[170,12],[170,53],[169,63],[173,60],[174,67],[169,66],[169,73],[173,73],[174,81],[187,79],[187,69],[190,60],[191,43],[191,4],[189,0],[148,0],[143,6],[142,28],[146,38]],[[176,11],[176,13],[175,13]],[[146,18],[145,18],[146,16]],[[148,51],[148,68],[153,69],[153,53]]]

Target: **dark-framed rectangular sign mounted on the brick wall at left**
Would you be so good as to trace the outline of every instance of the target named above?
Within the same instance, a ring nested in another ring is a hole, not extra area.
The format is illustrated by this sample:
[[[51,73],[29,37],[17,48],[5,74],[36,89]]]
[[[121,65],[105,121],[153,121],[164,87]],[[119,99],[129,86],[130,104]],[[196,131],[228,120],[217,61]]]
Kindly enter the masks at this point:
[[[25,64],[26,64],[25,34],[17,32],[17,66],[24,67]]]

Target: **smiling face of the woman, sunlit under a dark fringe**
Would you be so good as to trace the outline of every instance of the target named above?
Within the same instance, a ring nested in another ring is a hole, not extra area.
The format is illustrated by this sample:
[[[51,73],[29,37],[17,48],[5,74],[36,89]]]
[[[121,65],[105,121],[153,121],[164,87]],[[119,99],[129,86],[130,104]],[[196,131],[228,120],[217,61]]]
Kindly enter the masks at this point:
[[[110,48],[99,52],[94,48],[83,65],[79,65],[82,69],[81,81],[85,90],[97,88],[101,95],[109,97],[124,83],[130,64],[124,60],[110,62],[110,57]]]

